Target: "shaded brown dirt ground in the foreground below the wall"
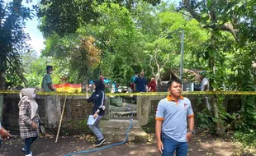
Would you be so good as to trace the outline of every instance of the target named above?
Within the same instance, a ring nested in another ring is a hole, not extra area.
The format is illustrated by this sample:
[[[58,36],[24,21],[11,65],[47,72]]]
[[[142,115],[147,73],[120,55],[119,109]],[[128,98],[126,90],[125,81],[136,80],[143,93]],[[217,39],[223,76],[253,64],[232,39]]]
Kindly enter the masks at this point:
[[[92,138],[92,137],[89,137]],[[128,155],[147,155],[147,156],[159,156],[159,152],[156,149],[156,142],[154,135],[149,135],[150,142],[146,144],[142,143],[126,143],[124,145],[117,145],[108,149],[102,149],[100,151],[92,152],[89,154],[78,154],[79,156],[128,156]],[[97,149],[92,146],[90,140],[85,139],[81,135],[73,136],[60,136],[58,143],[55,144],[54,135],[46,135],[40,137],[32,145],[31,150],[33,155],[36,156],[60,156],[70,154],[78,151]],[[107,142],[107,147],[114,143]],[[12,136],[11,139],[2,142],[2,148],[0,149],[1,156],[19,156],[24,155],[21,152],[23,140],[18,136]],[[248,151],[248,150],[247,150]],[[189,145],[189,156],[235,156],[235,155],[247,155],[256,156],[256,154],[249,151],[243,152],[239,143],[230,142],[229,140],[221,140],[213,135],[206,135],[204,133],[197,134],[193,137],[192,142]]]

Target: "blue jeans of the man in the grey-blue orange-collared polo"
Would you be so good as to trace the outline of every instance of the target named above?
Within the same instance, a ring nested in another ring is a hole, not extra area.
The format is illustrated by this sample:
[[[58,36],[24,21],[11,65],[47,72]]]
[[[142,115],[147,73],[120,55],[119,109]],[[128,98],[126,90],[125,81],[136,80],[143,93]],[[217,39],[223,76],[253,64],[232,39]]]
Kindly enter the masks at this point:
[[[162,156],[173,156],[175,150],[176,156],[187,156],[187,142],[178,142],[170,138],[168,135],[165,135],[164,133],[162,133],[162,142],[164,145]]]

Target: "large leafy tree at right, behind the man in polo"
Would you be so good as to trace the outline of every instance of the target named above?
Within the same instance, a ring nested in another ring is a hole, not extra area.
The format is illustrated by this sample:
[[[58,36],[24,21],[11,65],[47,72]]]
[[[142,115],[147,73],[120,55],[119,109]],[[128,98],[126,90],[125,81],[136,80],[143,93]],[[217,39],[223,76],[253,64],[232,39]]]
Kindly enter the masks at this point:
[[[231,66],[232,75],[239,79],[236,80],[251,80],[252,78],[252,61],[254,61],[254,42],[255,42],[255,12],[254,6],[255,1],[253,0],[233,0],[233,1],[216,1],[216,0],[203,0],[203,1],[194,1],[194,0],[183,0],[180,5],[180,8],[183,8],[189,14],[195,18],[198,22],[201,23],[201,26],[206,30],[211,32],[211,39],[208,40],[205,59],[208,62],[210,70],[210,79],[211,86],[214,89],[218,89],[221,85],[220,82],[224,80],[225,70],[222,66],[227,60],[225,57],[230,53],[231,50],[235,49],[235,60],[240,60],[244,56],[244,49],[249,51],[246,53],[245,62],[232,62]],[[233,39],[227,37],[223,31],[229,32]],[[225,44],[226,46],[223,46]],[[228,53],[226,53],[228,52]],[[242,54],[243,53],[243,54]],[[238,54],[238,55],[237,55]],[[249,59],[248,59],[249,58]],[[243,70],[240,70],[242,67]],[[217,71],[220,71],[219,73]],[[233,77],[233,76],[230,77]],[[252,82],[252,81],[250,81]],[[241,90],[254,90],[252,83],[245,83],[243,86],[239,86],[237,81],[237,89]],[[217,98],[217,97],[216,97]],[[253,100],[250,100],[253,101]],[[244,111],[249,111],[247,108],[252,103],[246,104],[243,103]],[[216,129],[219,135],[223,135],[225,132],[224,120],[225,112],[221,112],[221,104],[217,104],[216,101],[213,103],[214,115],[216,117]],[[245,109],[246,108],[246,109]],[[222,113],[222,116],[221,116]],[[245,121],[252,121],[252,118],[255,117],[255,113],[252,112],[249,115],[245,116]],[[248,119],[248,120],[247,120]],[[255,122],[254,122],[255,127]]]

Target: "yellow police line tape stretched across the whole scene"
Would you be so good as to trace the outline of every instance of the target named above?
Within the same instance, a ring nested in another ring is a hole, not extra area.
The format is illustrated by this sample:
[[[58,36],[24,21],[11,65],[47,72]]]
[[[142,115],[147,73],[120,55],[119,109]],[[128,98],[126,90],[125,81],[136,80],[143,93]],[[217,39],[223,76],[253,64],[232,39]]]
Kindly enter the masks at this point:
[[[20,94],[19,90],[0,90],[0,94]],[[86,93],[61,93],[61,92],[36,92],[36,94],[43,95],[68,95],[68,96],[85,96]],[[107,96],[154,96],[154,95],[167,95],[168,92],[139,92],[139,93],[107,93]],[[256,95],[253,91],[184,91],[183,95],[201,95],[201,94],[247,94]],[[88,95],[90,95],[88,93]]]

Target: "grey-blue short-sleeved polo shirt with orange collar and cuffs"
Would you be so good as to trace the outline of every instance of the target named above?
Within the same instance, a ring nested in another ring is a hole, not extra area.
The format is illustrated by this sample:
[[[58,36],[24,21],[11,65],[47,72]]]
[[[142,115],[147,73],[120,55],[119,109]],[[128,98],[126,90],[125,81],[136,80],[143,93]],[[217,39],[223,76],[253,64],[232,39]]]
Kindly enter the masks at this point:
[[[178,142],[187,142],[187,117],[193,117],[189,99],[173,101],[170,95],[159,101],[155,120],[162,120],[162,132]]]

